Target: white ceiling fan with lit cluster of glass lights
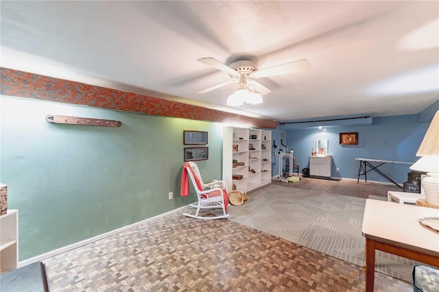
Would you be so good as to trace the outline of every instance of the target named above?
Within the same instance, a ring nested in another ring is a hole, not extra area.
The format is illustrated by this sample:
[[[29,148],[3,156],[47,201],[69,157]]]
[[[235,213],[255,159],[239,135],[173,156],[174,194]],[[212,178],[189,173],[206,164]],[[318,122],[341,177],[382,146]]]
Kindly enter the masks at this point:
[[[250,60],[239,60],[229,64],[228,66],[226,64],[223,64],[222,62],[219,62],[215,58],[200,58],[198,59],[198,61],[208,66],[211,66],[219,71],[228,73],[229,77],[233,79],[228,82],[223,82],[215,86],[200,90],[198,91],[198,93],[200,94],[209,93],[209,91],[221,88],[222,86],[226,86],[228,84],[232,84],[236,82],[236,80],[239,80],[238,86],[235,89],[235,93],[233,93],[233,95],[230,95],[230,97],[228,98],[227,104],[229,106],[241,106],[242,104],[244,104],[244,102],[248,104],[261,104],[261,95],[267,95],[268,93],[271,93],[270,89],[266,88],[259,82],[255,80],[248,80],[250,78],[255,79],[272,77],[309,70],[309,62],[306,59],[289,62],[262,70],[258,70],[257,63]],[[252,98],[244,97],[244,95],[242,95],[242,93],[244,92],[247,95],[251,94]],[[240,95],[239,99],[236,99],[237,95]],[[232,99],[232,97],[234,98]]]

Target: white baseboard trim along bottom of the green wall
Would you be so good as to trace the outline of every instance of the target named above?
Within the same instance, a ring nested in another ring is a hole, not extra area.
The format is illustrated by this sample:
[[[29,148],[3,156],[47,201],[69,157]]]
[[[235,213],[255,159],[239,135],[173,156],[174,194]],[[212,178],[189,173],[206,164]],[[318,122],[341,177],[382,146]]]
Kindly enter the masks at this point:
[[[179,212],[180,210],[182,210],[183,208],[186,208],[186,207],[187,206],[182,206],[180,208],[177,208],[177,209],[174,209],[174,210],[170,210],[170,211],[165,212],[163,214],[160,214],[160,215],[157,215],[157,216],[154,216],[154,217],[151,217],[151,218],[147,218],[145,220],[142,220],[142,221],[139,221],[139,222],[136,222],[136,223],[132,223],[132,224],[130,224],[128,226],[123,226],[121,228],[117,228],[117,229],[112,230],[110,232],[106,232],[104,234],[99,234],[99,235],[94,236],[94,237],[92,237],[90,239],[85,239],[84,241],[79,241],[78,243],[73,243],[71,245],[60,247],[60,248],[58,248],[58,250],[52,250],[51,252],[47,252],[45,254],[40,254],[39,256],[34,256],[33,258],[28,258],[27,260],[22,260],[21,262],[19,262],[18,267],[19,268],[20,267],[24,267],[24,266],[27,266],[27,265],[39,262],[41,260],[45,260],[46,258],[50,258],[51,256],[56,256],[58,254],[62,254],[63,252],[69,252],[70,250],[74,250],[75,248],[82,247],[84,245],[87,245],[89,243],[93,243],[95,241],[99,241],[100,239],[104,239],[104,238],[106,238],[108,236],[112,236],[112,235],[117,234],[119,232],[123,232],[123,231],[129,230],[131,228],[135,228],[135,227],[137,227],[139,225],[147,223],[148,221],[152,221],[154,219],[158,219],[158,218],[161,218],[161,217],[164,217],[164,216],[167,216],[167,215],[171,215],[171,214],[173,214],[175,212]]]

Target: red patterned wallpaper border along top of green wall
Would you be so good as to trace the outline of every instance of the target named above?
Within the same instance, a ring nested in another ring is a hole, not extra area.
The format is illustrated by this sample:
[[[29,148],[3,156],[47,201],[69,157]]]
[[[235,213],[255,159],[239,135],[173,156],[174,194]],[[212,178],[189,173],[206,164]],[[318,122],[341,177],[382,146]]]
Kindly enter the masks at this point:
[[[221,123],[239,123],[253,127],[274,129],[278,122],[246,117],[241,114],[222,112],[191,106],[177,101],[159,99],[137,93],[93,86],[80,82],[62,80],[34,73],[1,68],[1,95],[25,97],[45,101],[60,102],[139,112],[154,116],[193,119]]]

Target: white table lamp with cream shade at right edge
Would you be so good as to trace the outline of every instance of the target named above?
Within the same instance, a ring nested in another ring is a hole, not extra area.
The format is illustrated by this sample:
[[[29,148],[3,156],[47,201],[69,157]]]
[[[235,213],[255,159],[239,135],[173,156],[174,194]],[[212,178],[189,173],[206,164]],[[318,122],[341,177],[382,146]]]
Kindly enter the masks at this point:
[[[421,156],[410,167],[415,171],[425,171],[427,176],[420,184],[424,188],[427,203],[439,206],[439,110],[433,117],[416,156]]]

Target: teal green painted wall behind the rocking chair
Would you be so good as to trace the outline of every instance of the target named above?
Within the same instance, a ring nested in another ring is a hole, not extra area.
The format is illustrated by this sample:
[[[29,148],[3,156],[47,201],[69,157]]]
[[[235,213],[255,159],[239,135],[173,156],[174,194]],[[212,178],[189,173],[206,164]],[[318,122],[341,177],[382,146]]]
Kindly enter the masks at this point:
[[[221,123],[3,96],[0,107],[0,182],[19,209],[19,260],[195,202],[192,188],[180,197],[183,130],[209,132],[209,160],[197,164],[205,181],[222,175]],[[47,123],[47,114],[122,126]]]

